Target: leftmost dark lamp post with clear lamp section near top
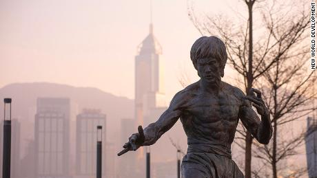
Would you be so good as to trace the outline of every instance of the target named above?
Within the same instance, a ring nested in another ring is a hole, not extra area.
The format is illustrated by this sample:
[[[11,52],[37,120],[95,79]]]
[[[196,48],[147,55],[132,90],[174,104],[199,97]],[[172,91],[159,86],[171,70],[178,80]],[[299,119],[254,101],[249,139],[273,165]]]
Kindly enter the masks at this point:
[[[11,161],[11,98],[4,98],[2,177],[10,178]]]

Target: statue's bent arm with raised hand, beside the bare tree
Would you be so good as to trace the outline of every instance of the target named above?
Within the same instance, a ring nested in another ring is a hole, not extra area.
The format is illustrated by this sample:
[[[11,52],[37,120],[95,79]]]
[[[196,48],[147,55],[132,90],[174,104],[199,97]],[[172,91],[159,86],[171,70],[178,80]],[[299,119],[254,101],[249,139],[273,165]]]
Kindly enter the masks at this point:
[[[243,104],[241,104],[239,109],[239,118],[245,128],[252,133],[258,142],[261,144],[268,144],[272,137],[272,124],[269,117],[269,110],[261,98],[260,91],[251,89],[250,93],[253,93],[253,95],[245,96],[242,99]],[[254,93],[256,93],[256,96]],[[258,115],[254,112],[251,104],[247,100],[252,102],[252,105],[261,116],[261,119],[258,118]]]

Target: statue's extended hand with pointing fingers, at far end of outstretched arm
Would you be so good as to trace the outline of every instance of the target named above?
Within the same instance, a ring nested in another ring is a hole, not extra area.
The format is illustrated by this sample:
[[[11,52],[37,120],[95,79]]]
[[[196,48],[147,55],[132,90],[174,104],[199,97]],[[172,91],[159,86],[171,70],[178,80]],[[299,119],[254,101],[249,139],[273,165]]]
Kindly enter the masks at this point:
[[[140,148],[140,146],[142,146],[142,144],[145,140],[142,126],[138,127],[138,131],[139,131],[139,133],[134,133],[131,135],[131,137],[129,137],[129,142],[127,142],[123,145],[124,149],[123,149],[123,151],[118,153],[118,156],[121,156],[124,153],[127,153],[128,151],[136,151],[138,148]]]

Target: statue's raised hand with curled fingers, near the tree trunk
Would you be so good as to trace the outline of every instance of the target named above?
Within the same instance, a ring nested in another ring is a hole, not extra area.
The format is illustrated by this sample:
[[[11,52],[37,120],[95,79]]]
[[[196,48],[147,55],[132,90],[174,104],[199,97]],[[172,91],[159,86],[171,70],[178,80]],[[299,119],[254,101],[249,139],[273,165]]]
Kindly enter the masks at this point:
[[[250,93],[252,94],[246,96],[245,99],[252,102],[252,106],[256,108],[256,111],[258,112],[258,114],[262,116],[269,115],[269,109],[267,109],[267,107],[265,106],[265,102],[263,101],[261,97],[261,92],[258,89],[254,89],[254,88],[250,89],[250,91],[251,91]],[[254,93],[256,93],[256,96],[254,95]]]

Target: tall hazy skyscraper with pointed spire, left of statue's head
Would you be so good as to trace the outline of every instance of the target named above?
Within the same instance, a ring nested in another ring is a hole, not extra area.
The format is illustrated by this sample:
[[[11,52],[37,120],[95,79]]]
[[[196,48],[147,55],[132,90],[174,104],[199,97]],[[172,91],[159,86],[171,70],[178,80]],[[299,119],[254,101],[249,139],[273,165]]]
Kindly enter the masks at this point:
[[[144,116],[151,109],[165,107],[161,54],[162,48],[153,34],[153,25],[151,23],[150,32],[138,46],[138,54],[135,57],[134,114],[138,125],[147,124]]]

